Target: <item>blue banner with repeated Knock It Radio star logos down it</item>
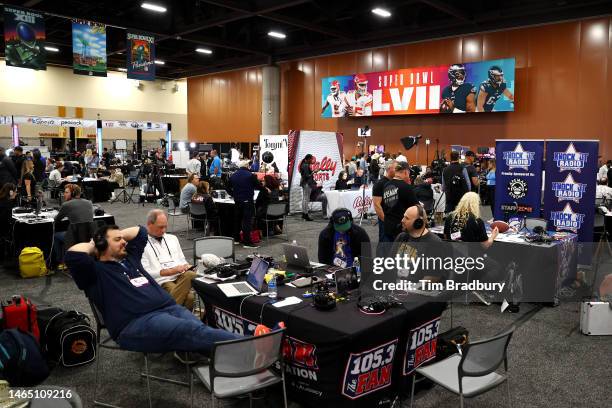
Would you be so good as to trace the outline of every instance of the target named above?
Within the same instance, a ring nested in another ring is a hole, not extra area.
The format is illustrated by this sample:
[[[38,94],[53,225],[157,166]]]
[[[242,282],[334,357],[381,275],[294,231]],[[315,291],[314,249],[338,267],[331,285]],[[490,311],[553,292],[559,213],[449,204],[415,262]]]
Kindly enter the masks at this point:
[[[593,241],[598,152],[598,140],[546,141],[544,217],[549,230],[578,234],[579,242]],[[579,263],[590,259],[588,250],[579,253]]]

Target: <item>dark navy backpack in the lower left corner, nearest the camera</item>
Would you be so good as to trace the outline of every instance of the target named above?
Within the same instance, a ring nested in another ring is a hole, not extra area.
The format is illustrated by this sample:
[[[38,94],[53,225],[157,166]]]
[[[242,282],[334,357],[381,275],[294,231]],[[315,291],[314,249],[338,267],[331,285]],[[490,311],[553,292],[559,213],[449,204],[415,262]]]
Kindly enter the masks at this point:
[[[49,376],[36,339],[18,329],[0,332],[0,378],[11,387],[31,387]]]

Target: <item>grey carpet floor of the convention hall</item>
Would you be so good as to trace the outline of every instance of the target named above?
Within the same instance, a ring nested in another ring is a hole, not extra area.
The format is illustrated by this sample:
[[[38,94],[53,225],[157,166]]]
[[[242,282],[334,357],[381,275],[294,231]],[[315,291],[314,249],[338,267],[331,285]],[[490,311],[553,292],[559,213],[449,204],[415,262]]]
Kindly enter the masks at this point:
[[[102,204],[102,207],[115,216],[121,227],[144,224],[146,212],[154,208],[147,204],[144,208],[135,204]],[[483,209],[487,219],[487,209]],[[301,218],[289,217],[289,239],[297,240],[308,248],[311,257],[316,257],[317,237],[326,221],[320,216],[314,222],[303,222]],[[177,220],[176,229],[184,229],[185,221]],[[364,227],[370,237],[376,240],[377,227],[369,220]],[[261,254],[280,256],[278,238],[264,244],[258,251]],[[181,237],[181,244],[187,259],[192,256],[192,242]],[[236,247],[237,256],[249,254],[253,250]],[[612,264],[603,266],[612,272]],[[90,313],[85,296],[74,282],[63,274],[50,277],[28,279],[19,278],[13,268],[0,269],[0,298],[12,294],[24,294],[37,303],[76,309]],[[580,334],[579,303],[564,303],[559,307],[539,308],[535,305],[522,305],[518,314],[500,314],[495,306],[477,304],[456,304],[453,308],[453,325],[469,329],[471,339],[495,334],[508,325],[518,322],[509,347],[509,371],[511,406],[513,407],[605,407],[612,401],[612,337],[589,337]],[[450,327],[450,312],[443,315],[441,330]],[[184,366],[171,355],[154,356],[152,372],[185,380]],[[139,377],[143,366],[142,356],[137,353],[104,351],[102,354],[101,398],[124,407],[146,406],[146,386]],[[79,368],[56,367],[45,381],[48,385],[59,385],[75,390],[85,406],[93,406],[95,364]],[[155,407],[188,407],[189,389],[173,384],[152,382],[152,397]],[[210,396],[203,387],[196,387],[195,406],[210,406]],[[255,406],[280,406],[278,392],[270,392]],[[507,406],[505,389],[493,390],[485,395],[468,401],[471,407]],[[299,406],[293,401],[292,406]],[[225,400],[221,406],[246,407],[248,400]],[[404,402],[404,406],[409,406]],[[434,387],[418,394],[417,407],[456,407],[458,398],[449,392]]]

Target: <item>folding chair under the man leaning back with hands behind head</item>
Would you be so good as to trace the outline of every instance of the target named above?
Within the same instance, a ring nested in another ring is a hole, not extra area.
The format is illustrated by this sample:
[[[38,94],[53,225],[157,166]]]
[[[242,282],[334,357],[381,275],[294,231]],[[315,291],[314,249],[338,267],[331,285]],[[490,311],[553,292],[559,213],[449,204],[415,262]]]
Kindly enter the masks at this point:
[[[102,401],[98,401],[97,395],[98,395],[98,377],[99,377],[99,372],[100,372],[100,359],[102,356],[102,349],[107,349],[107,350],[117,350],[117,351],[130,351],[130,350],[125,350],[122,349],[121,346],[119,346],[119,344],[117,344],[110,336],[110,334],[108,336],[105,336],[104,339],[102,339],[102,330],[106,329],[106,326],[104,324],[104,319],[102,317],[102,314],[100,313],[100,311],[98,310],[98,308],[96,307],[96,305],[91,301],[91,299],[89,300],[89,306],[91,307],[91,311],[93,313],[94,319],[96,321],[96,334],[97,334],[97,355],[96,355],[96,376],[95,376],[95,383],[94,383],[94,397],[93,397],[93,402],[94,405],[99,405],[102,407],[109,407],[109,408],[120,408],[118,405],[113,405],[113,404],[109,404],[107,402],[102,402]],[[164,378],[164,377],[157,377],[154,375],[149,374],[149,357],[148,357],[148,353],[142,353],[142,355],[144,356],[144,364],[145,364],[145,368],[144,368],[144,372],[141,372],[140,375],[144,378],[146,378],[147,380],[147,398],[149,400],[149,408],[152,408],[152,402],[151,402],[151,384],[150,384],[150,379],[153,380],[157,380],[157,381],[162,381],[162,382],[167,382],[167,383],[172,383],[172,384],[177,384],[177,385],[184,385],[187,386],[189,385],[188,383],[184,382],[184,381],[177,381],[177,380],[173,380],[170,378]],[[189,378],[189,365],[186,366],[187,367],[187,378]]]

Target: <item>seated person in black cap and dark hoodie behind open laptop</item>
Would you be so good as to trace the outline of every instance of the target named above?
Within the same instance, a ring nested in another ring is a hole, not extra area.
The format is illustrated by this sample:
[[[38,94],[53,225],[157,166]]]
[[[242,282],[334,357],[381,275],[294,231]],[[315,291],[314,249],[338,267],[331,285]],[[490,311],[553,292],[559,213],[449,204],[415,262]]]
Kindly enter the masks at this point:
[[[319,262],[349,268],[359,256],[371,256],[370,237],[353,222],[350,210],[337,208],[319,234]]]

